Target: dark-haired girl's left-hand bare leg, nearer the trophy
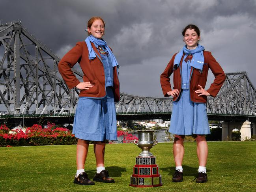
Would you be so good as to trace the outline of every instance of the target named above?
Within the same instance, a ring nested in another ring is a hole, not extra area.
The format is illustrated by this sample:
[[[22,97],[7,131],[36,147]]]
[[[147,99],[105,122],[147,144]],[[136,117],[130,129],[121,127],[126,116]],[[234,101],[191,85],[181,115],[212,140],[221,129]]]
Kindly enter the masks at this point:
[[[184,138],[185,135],[175,135],[173,143],[173,155],[176,166],[182,166],[182,160],[184,157]]]

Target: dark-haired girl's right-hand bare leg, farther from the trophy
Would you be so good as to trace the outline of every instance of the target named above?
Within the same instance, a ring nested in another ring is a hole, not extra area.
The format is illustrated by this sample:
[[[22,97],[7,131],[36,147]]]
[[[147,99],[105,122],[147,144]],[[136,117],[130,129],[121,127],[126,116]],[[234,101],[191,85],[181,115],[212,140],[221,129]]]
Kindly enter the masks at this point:
[[[208,145],[205,135],[197,135],[196,137],[196,152],[199,161],[199,166],[206,167],[206,161],[208,156]]]

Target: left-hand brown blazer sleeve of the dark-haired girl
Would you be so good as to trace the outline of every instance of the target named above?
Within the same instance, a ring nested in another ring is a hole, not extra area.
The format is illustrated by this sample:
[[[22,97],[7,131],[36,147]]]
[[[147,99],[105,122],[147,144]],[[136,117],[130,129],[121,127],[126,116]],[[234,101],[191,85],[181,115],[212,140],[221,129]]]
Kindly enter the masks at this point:
[[[176,54],[174,54],[174,56],[172,56],[172,59],[170,60],[167,67],[164,69],[164,72],[160,76],[160,83],[161,83],[161,87],[162,87],[162,90],[164,93],[164,97],[169,97],[169,95],[167,95],[167,93],[169,91],[172,91],[172,86],[170,83],[170,76],[172,75],[172,72],[173,72],[173,63],[174,63],[175,56],[176,56]]]

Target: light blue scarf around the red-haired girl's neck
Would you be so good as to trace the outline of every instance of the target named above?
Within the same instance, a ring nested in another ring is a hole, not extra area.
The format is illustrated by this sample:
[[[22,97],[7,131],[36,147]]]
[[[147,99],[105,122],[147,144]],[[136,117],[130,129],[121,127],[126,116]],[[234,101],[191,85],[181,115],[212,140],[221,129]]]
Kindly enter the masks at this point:
[[[114,56],[114,54],[112,53],[111,49],[108,47],[106,41],[104,41],[102,38],[98,39],[96,37],[94,37],[93,35],[89,35],[86,39],[85,39],[86,45],[88,47],[89,50],[89,59],[92,60],[94,58],[96,58],[96,54],[92,48],[92,43],[95,43],[96,45],[99,45],[100,47],[105,47],[108,51],[108,54],[110,56],[111,62],[112,62],[112,67],[115,66],[119,66],[118,62],[116,61],[116,58]]]

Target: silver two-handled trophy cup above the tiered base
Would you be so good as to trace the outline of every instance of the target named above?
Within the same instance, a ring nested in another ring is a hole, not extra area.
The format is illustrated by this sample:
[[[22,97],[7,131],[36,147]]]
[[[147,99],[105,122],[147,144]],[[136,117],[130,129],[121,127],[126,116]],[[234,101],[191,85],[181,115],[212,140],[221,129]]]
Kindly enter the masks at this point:
[[[153,141],[153,133],[153,130],[138,130],[139,140],[134,140],[134,144],[142,149],[139,157],[153,157],[149,150],[158,143],[157,140]]]

